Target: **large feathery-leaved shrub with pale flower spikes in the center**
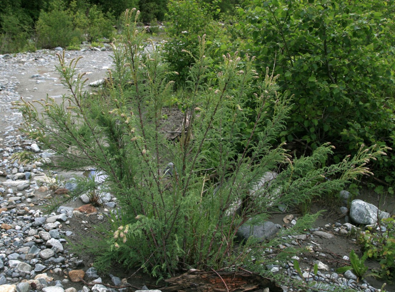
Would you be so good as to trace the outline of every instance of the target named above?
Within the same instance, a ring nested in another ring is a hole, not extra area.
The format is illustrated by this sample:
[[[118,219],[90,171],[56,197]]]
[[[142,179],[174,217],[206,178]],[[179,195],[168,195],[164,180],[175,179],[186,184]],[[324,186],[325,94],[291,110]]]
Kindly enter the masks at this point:
[[[108,175],[105,185],[121,210],[110,223],[106,250],[98,253],[101,268],[117,261],[164,277],[181,267],[249,262],[250,247],[260,255],[265,247],[251,239],[234,252],[243,223],[262,221],[280,203],[295,205],[341,189],[369,174],[364,164],[387,150],[361,148],[353,158],[324,166],[333,149],[329,143],[300,158],[292,158],[283,145],[273,147],[290,112],[289,100],[277,93],[278,76],[267,70],[260,80],[253,59],[237,53],[214,63],[205,54],[205,36],[197,55],[181,52],[194,65],[180,95],[179,139],[167,139],[162,108],[174,94],[176,73],[169,71],[160,46],[142,53],[144,33],[132,12],[126,12],[121,41],[113,45],[114,71],[101,92],[85,92],[84,74],[75,76],[79,59],[67,64],[63,54],[57,69],[71,94],[60,103],[50,97],[39,101],[41,114],[33,103],[20,105],[26,131],[62,156],[62,167],[95,165]],[[250,91],[256,101],[254,125],[264,126],[242,136],[239,123],[244,123]],[[239,140],[245,145],[241,152],[234,143]],[[278,177],[258,188],[261,177],[279,166]],[[325,179],[336,174],[338,179]],[[306,228],[303,222],[299,219],[295,228]]]

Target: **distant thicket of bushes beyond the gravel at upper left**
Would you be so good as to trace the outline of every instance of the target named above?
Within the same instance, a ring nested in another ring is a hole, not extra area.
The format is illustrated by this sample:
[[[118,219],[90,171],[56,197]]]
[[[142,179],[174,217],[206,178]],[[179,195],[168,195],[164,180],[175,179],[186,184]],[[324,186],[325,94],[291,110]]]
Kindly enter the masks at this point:
[[[163,20],[167,0],[3,0],[0,54],[111,39],[127,8],[141,7],[141,21]]]

